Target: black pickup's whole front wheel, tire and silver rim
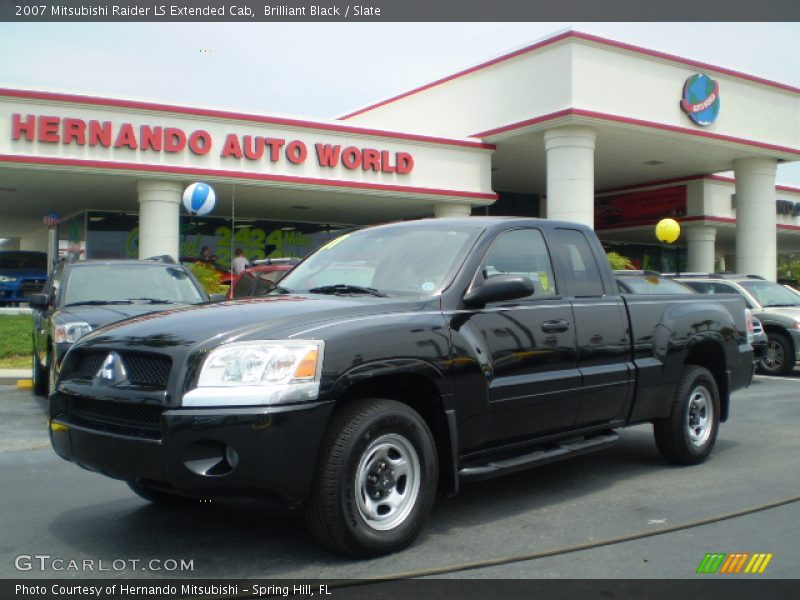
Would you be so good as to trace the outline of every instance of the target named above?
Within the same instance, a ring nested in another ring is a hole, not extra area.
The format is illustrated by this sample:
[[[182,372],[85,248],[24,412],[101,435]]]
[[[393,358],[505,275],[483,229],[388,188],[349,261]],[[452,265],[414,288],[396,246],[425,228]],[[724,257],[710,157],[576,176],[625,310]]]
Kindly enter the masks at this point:
[[[419,413],[394,400],[354,400],[334,413],[321,448],[305,507],[314,536],[356,557],[411,544],[439,479],[436,445]]]

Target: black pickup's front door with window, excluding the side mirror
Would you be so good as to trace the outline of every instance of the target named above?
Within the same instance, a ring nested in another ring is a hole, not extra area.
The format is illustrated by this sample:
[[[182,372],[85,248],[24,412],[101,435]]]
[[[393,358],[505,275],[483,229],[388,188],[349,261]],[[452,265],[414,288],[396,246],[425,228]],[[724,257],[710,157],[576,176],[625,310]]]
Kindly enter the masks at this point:
[[[580,393],[575,326],[541,231],[513,229],[498,236],[475,285],[503,274],[530,278],[535,291],[488,304],[469,319],[478,347],[488,355],[483,369],[493,437],[511,440],[569,428]]]

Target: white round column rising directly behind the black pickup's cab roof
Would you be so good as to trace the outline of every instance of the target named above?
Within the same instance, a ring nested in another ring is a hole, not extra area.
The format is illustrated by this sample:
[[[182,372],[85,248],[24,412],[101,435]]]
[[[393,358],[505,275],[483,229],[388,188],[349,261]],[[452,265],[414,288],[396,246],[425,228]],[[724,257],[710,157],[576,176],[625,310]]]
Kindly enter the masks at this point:
[[[595,132],[565,126],[544,133],[547,151],[547,218],[594,229]]]

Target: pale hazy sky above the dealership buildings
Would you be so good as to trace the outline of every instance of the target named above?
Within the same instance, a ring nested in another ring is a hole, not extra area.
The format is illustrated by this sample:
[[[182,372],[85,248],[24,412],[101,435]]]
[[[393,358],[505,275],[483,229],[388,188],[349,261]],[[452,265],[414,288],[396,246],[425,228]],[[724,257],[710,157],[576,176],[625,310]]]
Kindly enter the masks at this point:
[[[0,86],[333,119],[570,28],[800,87],[800,23],[578,22],[0,23]]]

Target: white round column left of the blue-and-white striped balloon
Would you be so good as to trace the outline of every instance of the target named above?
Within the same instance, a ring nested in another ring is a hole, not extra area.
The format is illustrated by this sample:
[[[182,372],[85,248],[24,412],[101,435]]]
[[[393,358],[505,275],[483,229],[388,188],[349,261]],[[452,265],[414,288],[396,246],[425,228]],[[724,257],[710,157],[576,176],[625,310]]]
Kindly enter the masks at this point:
[[[139,258],[179,256],[180,206],[183,185],[175,181],[140,180]]]

